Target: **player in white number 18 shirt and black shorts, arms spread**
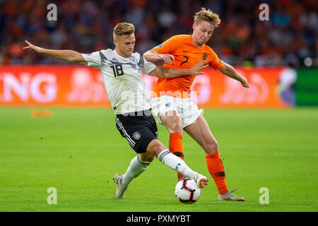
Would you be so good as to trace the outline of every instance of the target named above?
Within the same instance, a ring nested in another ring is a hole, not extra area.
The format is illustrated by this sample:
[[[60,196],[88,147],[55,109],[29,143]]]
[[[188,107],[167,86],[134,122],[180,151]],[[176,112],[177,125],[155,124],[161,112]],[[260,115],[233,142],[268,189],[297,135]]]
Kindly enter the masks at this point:
[[[138,155],[134,157],[124,175],[115,174],[117,184],[115,198],[124,198],[129,183],[145,171],[157,157],[167,167],[196,181],[200,187],[206,186],[208,178],[190,169],[183,160],[170,151],[158,140],[158,130],[151,113],[151,102],[147,95],[142,73],[159,78],[174,78],[183,75],[199,75],[199,70],[206,68],[206,61],[201,61],[191,69],[158,68],[146,61],[139,53],[134,53],[136,42],[134,25],[119,23],[114,27],[115,49],[103,49],[91,54],[80,54],[72,50],[43,49],[25,41],[28,47],[40,54],[76,62],[100,69],[105,89],[116,114],[116,126],[131,148]]]

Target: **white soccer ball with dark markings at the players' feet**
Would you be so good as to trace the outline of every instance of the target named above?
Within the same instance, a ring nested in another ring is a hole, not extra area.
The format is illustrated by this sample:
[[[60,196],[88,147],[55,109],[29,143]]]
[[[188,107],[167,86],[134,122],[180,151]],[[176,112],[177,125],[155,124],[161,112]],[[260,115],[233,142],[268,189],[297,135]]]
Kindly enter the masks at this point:
[[[195,203],[201,195],[201,189],[194,179],[182,179],[175,186],[175,196],[182,203]]]

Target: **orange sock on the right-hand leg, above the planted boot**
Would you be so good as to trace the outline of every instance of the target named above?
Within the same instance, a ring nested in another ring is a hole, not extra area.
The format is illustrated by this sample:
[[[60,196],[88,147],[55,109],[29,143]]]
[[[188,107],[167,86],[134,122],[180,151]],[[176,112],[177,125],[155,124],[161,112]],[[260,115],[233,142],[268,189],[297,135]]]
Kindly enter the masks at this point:
[[[228,191],[228,187],[225,183],[225,172],[223,167],[223,161],[218,155],[218,151],[211,155],[206,155],[206,165],[208,166],[208,172],[216,182],[218,188],[218,194],[223,195]]]

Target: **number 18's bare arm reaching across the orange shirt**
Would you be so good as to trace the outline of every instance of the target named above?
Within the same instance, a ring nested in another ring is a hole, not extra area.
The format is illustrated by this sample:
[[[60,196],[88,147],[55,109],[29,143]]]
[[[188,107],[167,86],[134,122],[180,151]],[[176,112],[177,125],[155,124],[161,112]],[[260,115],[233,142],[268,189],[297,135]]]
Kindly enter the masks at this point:
[[[153,69],[149,75],[156,76],[158,78],[175,78],[186,75],[199,76],[204,74],[203,72],[200,72],[200,70],[205,69],[207,66],[208,64],[206,64],[206,61],[201,61],[194,65],[191,69],[170,69],[155,67],[155,69]]]

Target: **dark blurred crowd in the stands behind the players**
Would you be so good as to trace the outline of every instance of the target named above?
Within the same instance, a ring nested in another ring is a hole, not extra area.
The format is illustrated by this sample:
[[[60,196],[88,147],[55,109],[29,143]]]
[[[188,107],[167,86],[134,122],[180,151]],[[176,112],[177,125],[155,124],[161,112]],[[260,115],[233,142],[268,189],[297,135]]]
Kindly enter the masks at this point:
[[[56,21],[47,20],[51,3]],[[259,20],[263,3],[268,21]],[[317,0],[0,0],[0,65],[69,64],[23,50],[24,40],[89,53],[114,48],[112,30],[124,21],[135,25],[135,51],[143,54],[172,35],[192,34],[202,6],[220,16],[207,43],[220,59],[235,66],[317,66]]]

